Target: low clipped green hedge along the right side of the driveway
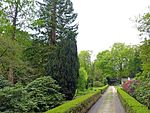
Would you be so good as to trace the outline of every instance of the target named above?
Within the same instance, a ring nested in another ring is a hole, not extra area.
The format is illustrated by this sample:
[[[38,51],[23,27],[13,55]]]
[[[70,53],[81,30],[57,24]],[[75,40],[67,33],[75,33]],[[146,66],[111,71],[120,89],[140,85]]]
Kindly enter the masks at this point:
[[[123,91],[121,88],[117,88],[117,92],[120,101],[125,108],[126,113],[150,113],[148,107],[139,103],[135,98]]]

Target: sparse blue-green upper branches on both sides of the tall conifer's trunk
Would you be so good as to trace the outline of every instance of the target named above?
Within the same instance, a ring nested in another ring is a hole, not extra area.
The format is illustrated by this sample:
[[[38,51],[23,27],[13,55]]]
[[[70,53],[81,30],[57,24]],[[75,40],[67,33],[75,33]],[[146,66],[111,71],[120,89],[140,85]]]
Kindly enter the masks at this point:
[[[54,2],[55,6],[53,6]],[[64,39],[75,39],[78,27],[75,24],[77,14],[74,13],[73,4],[70,0],[45,0],[38,2],[38,6],[40,7],[37,11],[38,19],[32,24],[32,29],[36,30],[35,38],[50,42],[51,32],[55,26],[55,32],[57,32],[56,42],[61,42]],[[52,12],[53,7],[57,8],[55,14]],[[56,15],[56,18],[52,20],[54,15]]]

